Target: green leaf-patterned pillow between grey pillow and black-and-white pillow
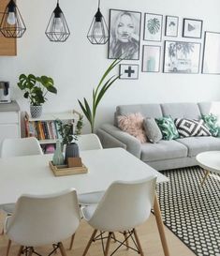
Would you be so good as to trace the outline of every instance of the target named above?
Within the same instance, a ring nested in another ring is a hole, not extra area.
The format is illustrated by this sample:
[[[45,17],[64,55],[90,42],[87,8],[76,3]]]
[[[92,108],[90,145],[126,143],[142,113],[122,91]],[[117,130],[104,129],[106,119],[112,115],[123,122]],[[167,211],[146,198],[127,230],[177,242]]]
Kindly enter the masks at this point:
[[[180,137],[171,116],[156,118],[155,121],[163,134],[163,140],[170,141]]]

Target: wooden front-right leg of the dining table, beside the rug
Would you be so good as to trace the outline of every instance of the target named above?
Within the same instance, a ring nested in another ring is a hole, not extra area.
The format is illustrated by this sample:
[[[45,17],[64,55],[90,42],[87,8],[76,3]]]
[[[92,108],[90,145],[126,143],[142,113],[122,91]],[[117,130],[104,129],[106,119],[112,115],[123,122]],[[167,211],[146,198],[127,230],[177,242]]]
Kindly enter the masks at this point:
[[[154,215],[155,215],[157,228],[158,228],[158,231],[160,234],[160,240],[162,243],[162,247],[164,249],[164,255],[169,256],[168,242],[167,242],[167,238],[165,235],[164,223],[163,223],[163,219],[161,217],[160,205],[159,205],[156,193],[155,193],[155,197],[154,197]]]

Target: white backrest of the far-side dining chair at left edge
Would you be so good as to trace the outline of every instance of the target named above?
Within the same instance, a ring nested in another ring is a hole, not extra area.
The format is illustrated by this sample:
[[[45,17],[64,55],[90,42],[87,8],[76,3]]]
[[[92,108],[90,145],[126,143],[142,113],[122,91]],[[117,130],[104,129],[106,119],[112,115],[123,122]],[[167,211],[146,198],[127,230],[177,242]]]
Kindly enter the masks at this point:
[[[1,144],[0,157],[21,157],[42,155],[42,149],[35,137],[22,139],[5,139]]]

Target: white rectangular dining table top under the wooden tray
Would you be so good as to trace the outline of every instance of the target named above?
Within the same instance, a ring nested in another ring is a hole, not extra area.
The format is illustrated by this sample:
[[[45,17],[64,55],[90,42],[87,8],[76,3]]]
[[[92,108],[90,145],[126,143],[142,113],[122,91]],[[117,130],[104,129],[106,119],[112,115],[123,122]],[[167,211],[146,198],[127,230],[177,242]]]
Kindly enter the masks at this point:
[[[169,179],[125,149],[81,151],[88,173],[55,177],[49,167],[52,155],[0,158],[0,204],[15,203],[24,193],[48,194],[76,188],[79,194],[106,190],[115,180],[133,181],[157,175]]]

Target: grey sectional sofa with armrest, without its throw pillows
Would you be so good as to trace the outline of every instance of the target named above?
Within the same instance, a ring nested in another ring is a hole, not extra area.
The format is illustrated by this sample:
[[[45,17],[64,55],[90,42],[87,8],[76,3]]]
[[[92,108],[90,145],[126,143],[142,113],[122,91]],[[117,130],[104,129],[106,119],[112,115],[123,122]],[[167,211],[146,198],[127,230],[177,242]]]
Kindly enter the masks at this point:
[[[104,124],[96,131],[104,148],[123,147],[158,171],[196,165],[198,153],[220,150],[220,138],[212,136],[141,144],[117,128],[117,116],[127,113],[142,113],[144,117],[154,118],[171,115],[173,118],[199,119],[201,114],[219,115],[220,102],[122,105],[116,108],[114,125]]]

